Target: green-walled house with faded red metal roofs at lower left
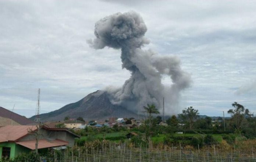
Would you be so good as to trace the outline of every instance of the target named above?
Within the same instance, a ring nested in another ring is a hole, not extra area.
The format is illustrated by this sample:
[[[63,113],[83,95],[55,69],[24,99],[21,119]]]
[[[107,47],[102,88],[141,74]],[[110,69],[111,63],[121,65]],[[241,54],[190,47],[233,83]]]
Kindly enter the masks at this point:
[[[37,130],[35,125],[0,127],[0,159],[3,157],[13,159],[20,153],[35,150],[36,136],[34,132]],[[79,136],[67,129],[43,126],[38,136],[38,151],[60,146],[72,147],[75,137]]]

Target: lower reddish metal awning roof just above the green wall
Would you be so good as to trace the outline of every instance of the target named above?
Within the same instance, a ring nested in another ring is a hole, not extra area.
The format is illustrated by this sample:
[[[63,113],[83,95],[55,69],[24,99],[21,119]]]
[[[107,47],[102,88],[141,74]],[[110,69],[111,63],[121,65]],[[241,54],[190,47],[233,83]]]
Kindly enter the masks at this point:
[[[30,141],[20,141],[20,142],[15,142],[19,145],[22,145],[24,147],[27,147],[31,150],[36,149],[36,140],[30,140]],[[64,146],[68,145],[68,141],[63,141],[59,139],[55,140],[47,140],[47,139],[41,139],[38,141],[38,149],[40,148],[49,148],[49,147],[57,147],[57,146]]]

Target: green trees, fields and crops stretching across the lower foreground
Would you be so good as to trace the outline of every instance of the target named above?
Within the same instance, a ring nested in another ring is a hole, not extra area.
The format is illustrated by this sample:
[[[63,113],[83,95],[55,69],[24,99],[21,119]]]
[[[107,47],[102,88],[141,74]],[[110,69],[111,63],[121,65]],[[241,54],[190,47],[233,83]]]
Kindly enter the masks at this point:
[[[66,155],[67,157],[72,155],[72,158],[74,158],[74,156],[81,157],[81,154],[84,154],[94,159],[101,155],[99,150],[105,149],[103,152],[108,153],[106,157],[111,155],[116,161],[122,161],[122,158],[119,158],[119,155],[122,154],[122,152],[118,152],[119,149],[128,149],[130,153],[134,151],[133,154],[136,156],[136,160],[141,160],[141,158],[150,159],[150,156],[153,159],[159,158],[159,156],[152,157],[152,155],[168,150],[168,154],[173,152],[169,157],[174,156],[173,158],[178,161],[182,161],[182,156],[186,161],[188,155],[207,156],[209,158],[209,154],[220,155],[220,157],[214,157],[214,161],[225,157],[228,157],[228,161],[234,159],[244,161],[245,159],[238,154],[243,152],[244,157],[248,158],[250,152],[254,156],[253,152],[256,150],[256,117],[237,102],[234,102],[231,106],[234,109],[230,109],[228,113],[232,117],[225,119],[225,129],[222,118],[211,119],[207,116],[199,118],[198,110],[193,107],[185,108],[182,114],[178,114],[178,118],[175,115],[171,116],[166,120],[166,124],[161,123],[161,116],[154,116],[154,114],[159,114],[154,105],[144,107],[147,115],[141,121],[142,125],[134,124],[135,127],[132,128],[118,124],[113,127],[93,127],[97,123],[90,121],[92,125],[86,126],[84,129],[71,130],[80,135],[81,138],[76,139],[75,147],[66,150]],[[125,123],[129,125],[132,124],[132,121],[134,122],[133,118],[125,120]],[[127,134],[129,134],[128,137]],[[113,154],[113,150],[108,150],[113,148],[118,153]],[[157,151],[154,152],[156,149]],[[154,153],[151,155],[147,152],[142,155],[142,150],[146,150],[146,152],[151,150]],[[189,152],[184,153],[183,151]],[[198,153],[192,155],[197,151]],[[202,152],[203,154],[200,154]],[[218,153],[216,154],[216,152]],[[234,155],[231,158],[230,153]],[[50,157],[49,161],[53,161],[53,158],[54,160],[63,160],[63,156],[58,152],[48,152],[47,154],[46,156]],[[124,154],[124,156],[126,155],[129,154]],[[130,157],[131,155],[128,156],[128,158]],[[19,158],[22,158],[22,156]],[[196,160],[194,159],[194,161]],[[250,161],[250,157],[248,161]]]

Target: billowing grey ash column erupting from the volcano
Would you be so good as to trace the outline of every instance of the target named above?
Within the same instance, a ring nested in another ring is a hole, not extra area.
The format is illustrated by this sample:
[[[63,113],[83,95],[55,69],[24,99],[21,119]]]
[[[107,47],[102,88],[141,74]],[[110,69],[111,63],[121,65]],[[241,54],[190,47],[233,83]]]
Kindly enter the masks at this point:
[[[155,104],[161,111],[162,98],[166,98],[167,114],[177,113],[181,90],[189,86],[190,75],[182,71],[175,56],[160,56],[141,47],[149,44],[144,35],[147,27],[136,12],[116,13],[95,24],[96,39],[87,42],[95,49],[112,47],[122,51],[122,68],[131,77],[120,89],[108,89],[111,102],[139,112],[146,104]],[[171,86],[161,83],[163,76],[171,78]]]

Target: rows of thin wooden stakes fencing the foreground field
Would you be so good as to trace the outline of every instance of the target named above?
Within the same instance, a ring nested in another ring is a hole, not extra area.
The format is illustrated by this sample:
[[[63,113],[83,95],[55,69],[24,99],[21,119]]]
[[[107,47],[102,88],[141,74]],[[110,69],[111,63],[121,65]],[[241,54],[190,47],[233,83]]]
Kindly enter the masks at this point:
[[[83,147],[69,150],[55,162],[256,162],[252,154],[230,153],[212,149],[184,151],[182,147],[168,149],[131,148],[125,145]],[[212,147],[211,147],[212,148]]]

